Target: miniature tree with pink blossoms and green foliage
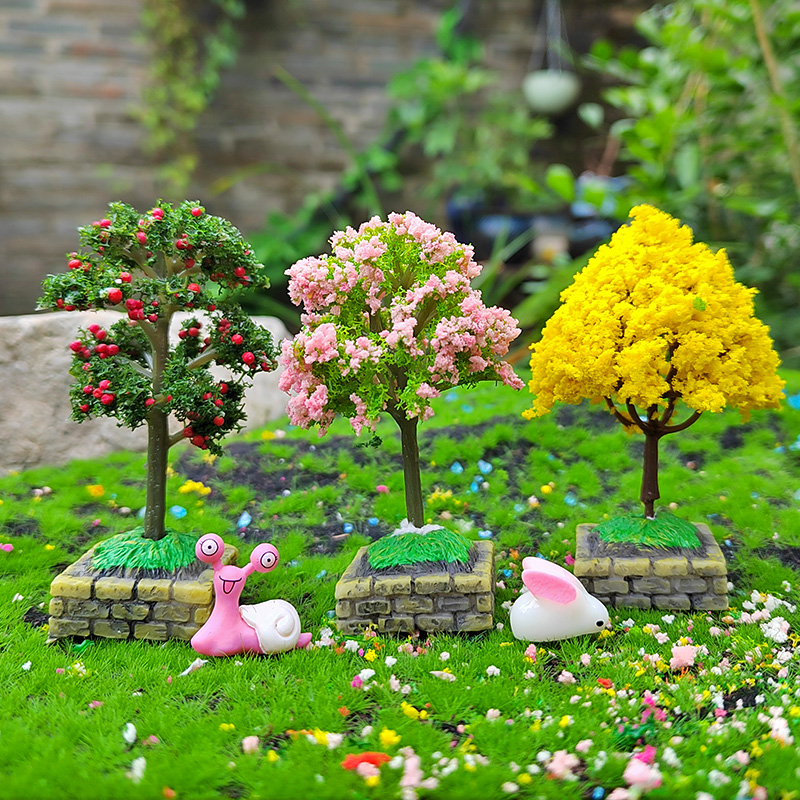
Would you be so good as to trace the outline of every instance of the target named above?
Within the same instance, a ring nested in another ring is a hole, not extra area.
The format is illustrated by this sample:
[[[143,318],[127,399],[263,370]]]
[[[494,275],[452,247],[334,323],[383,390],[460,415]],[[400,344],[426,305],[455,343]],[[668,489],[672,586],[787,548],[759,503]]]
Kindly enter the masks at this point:
[[[400,428],[408,520],[424,524],[417,425],[454,386],[524,384],[503,361],[519,335],[505,309],[487,308],[470,280],[480,274],[459,244],[407,211],[373,217],[331,239],[330,255],[288,271],[303,327],[283,342],[280,387],[289,418],[320,436],[336,414],[356,434],[387,412]]]

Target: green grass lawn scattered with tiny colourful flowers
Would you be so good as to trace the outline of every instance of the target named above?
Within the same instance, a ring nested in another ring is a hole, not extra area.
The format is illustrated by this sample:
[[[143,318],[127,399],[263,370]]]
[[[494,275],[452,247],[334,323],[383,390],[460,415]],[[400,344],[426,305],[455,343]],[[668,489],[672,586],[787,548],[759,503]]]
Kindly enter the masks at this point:
[[[707,414],[662,442],[661,502],[710,525],[729,612],[612,609],[607,634],[528,648],[508,626],[519,561],[568,563],[576,524],[636,511],[642,449],[602,409],[526,422],[528,404],[453,392],[420,428],[430,521],[499,553],[496,629],[476,636],[335,632],[338,576],[405,515],[390,423],[378,447],[283,420],[216,460],[175,449],[169,526],[220,534],[241,563],[273,542],[281,563],[243,602],[289,600],[316,642],[186,675],[185,642],[46,643],[52,578],[136,526],[143,455],[0,479],[0,797],[794,797],[800,411]],[[389,760],[342,766],[366,751]]]

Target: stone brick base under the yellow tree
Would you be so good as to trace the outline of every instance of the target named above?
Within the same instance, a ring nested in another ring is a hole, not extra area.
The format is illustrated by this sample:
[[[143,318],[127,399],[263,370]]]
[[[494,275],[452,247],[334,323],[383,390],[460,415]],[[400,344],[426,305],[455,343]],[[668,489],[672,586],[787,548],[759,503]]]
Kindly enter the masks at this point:
[[[724,611],[728,607],[725,557],[711,530],[695,523],[701,548],[640,547],[600,542],[595,525],[579,525],[575,576],[587,591],[617,608]]]

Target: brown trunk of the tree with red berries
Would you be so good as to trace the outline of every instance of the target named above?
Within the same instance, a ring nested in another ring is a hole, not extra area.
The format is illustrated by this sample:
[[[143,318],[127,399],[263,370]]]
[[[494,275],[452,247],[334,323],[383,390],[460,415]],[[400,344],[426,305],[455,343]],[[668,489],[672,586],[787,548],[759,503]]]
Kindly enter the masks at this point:
[[[169,317],[160,319],[150,336],[153,358],[153,397],[161,393],[164,366],[169,355]],[[146,539],[163,539],[167,513],[167,454],[169,416],[157,406],[147,415],[147,499],[144,514]]]

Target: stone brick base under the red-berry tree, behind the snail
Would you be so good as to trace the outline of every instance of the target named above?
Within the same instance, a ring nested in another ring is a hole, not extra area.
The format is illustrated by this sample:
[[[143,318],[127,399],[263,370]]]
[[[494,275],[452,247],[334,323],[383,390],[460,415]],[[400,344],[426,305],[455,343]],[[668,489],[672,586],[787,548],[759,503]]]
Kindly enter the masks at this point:
[[[70,564],[50,584],[52,639],[100,636],[108,639],[191,639],[214,603],[211,568],[190,579],[98,575],[91,568],[94,548]],[[225,545],[223,564],[239,551]]]

